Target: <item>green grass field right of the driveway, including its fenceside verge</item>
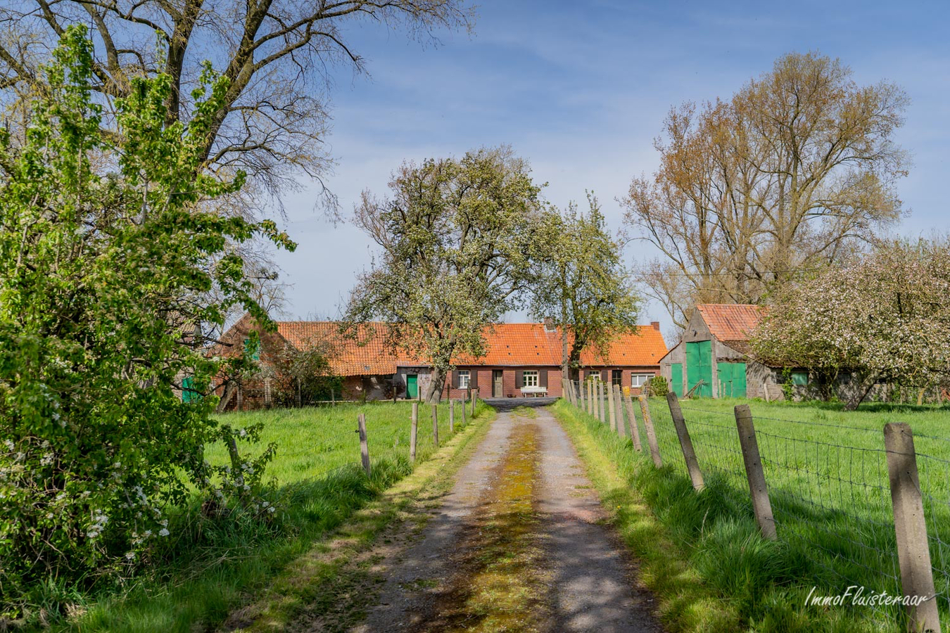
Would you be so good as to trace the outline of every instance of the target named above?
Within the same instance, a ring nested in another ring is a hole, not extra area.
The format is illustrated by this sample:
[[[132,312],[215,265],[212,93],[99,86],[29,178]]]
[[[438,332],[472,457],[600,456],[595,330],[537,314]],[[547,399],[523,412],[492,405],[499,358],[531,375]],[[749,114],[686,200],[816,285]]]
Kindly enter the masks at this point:
[[[769,484],[779,541],[758,535],[733,407],[748,403]],[[903,421],[915,434],[941,621],[950,605],[950,409],[754,400],[681,403],[706,489],[694,493],[666,400],[650,408],[664,467],[646,448],[561,402],[561,416],[587,424],[620,472],[637,487],[686,553],[693,569],[755,631],[898,630],[902,607],[806,607],[809,590],[837,595],[847,586],[900,594],[883,424]],[[929,436],[929,437],[925,437]],[[944,623],[946,625],[948,623]]]

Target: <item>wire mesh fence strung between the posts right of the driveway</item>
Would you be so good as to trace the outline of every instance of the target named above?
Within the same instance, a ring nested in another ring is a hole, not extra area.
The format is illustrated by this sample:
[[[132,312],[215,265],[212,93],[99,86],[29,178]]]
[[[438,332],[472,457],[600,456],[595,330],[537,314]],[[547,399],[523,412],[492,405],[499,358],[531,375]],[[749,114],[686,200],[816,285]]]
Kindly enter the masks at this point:
[[[573,386],[572,393],[583,388],[583,384]],[[725,490],[739,500],[738,512],[751,514],[750,474],[734,414],[695,402],[684,400],[678,408],[706,485]],[[688,477],[668,402],[650,399],[647,407],[664,468]],[[876,594],[902,596],[894,483],[882,429],[822,419],[753,419],[778,538],[807,558],[815,586],[833,590],[832,595],[848,586],[864,586]],[[637,420],[641,434],[643,421]],[[950,621],[950,438],[915,434],[914,440],[918,494],[926,523],[926,543],[918,545],[929,551],[933,599],[946,625]],[[647,454],[646,447],[643,453]],[[915,617],[913,611],[901,603],[865,604],[871,607],[874,621],[913,625],[907,621]]]

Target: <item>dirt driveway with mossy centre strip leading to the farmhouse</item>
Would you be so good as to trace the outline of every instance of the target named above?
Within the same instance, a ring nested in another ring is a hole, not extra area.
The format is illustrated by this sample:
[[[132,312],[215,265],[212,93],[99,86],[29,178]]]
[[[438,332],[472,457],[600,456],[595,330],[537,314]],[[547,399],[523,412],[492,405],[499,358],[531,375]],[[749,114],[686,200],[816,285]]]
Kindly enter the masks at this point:
[[[425,529],[386,556],[354,630],[661,631],[560,424],[499,408]]]

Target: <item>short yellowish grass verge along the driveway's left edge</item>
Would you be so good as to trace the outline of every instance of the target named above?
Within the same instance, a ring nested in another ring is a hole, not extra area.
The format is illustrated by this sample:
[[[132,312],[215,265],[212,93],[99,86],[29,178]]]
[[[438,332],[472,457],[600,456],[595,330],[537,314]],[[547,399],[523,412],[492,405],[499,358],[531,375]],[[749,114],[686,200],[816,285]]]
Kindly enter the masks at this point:
[[[493,419],[493,409],[480,409],[464,431],[412,475],[354,512],[330,537],[285,568],[256,601],[233,612],[224,629],[249,633],[343,631],[361,621],[378,589],[371,568],[379,555],[371,547],[384,533],[390,536],[387,530],[396,522],[404,528],[403,537],[422,530],[425,518],[418,506],[425,505],[427,499],[437,505],[438,498],[451,488],[456,472],[485,438]]]

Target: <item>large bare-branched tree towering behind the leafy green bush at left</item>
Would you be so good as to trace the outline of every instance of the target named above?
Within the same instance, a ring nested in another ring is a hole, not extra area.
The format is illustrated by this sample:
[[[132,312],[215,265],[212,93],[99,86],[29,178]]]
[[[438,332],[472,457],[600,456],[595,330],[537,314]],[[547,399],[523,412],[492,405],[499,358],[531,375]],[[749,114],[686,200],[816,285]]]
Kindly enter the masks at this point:
[[[434,41],[434,28],[470,28],[473,14],[464,5],[464,0],[7,3],[0,8],[0,92],[12,111],[26,116],[28,99],[47,91],[39,66],[76,22],[87,24],[94,37],[93,87],[103,102],[127,96],[132,77],[164,73],[172,83],[168,124],[194,117],[193,91],[210,61],[229,86],[200,147],[201,166],[228,175],[243,170],[252,195],[274,196],[294,187],[300,172],[319,180],[331,162],[323,142],[330,67],[342,63],[363,70],[346,29],[370,20]],[[104,121],[108,127],[110,120]]]

